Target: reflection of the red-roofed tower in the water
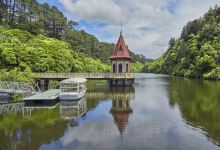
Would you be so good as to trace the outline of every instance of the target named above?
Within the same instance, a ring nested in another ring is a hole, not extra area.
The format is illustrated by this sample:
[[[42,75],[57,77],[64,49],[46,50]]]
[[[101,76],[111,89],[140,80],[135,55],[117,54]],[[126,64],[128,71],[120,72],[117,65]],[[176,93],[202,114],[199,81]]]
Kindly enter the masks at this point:
[[[134,97],[133,87],[114,87],[111,88],[112,114],[115,124],[122,135],[128,124],[129,114],[133,112],[130,101]]]

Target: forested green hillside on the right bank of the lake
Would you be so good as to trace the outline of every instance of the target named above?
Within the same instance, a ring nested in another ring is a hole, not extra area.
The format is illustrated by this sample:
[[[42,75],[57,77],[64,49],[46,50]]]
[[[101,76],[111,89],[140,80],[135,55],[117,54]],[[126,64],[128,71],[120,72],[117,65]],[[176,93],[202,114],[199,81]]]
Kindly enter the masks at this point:
[[[220,79],[220,7],[189,22],[179,39],[171,38],[167,52],[147,63],[145,72]]]

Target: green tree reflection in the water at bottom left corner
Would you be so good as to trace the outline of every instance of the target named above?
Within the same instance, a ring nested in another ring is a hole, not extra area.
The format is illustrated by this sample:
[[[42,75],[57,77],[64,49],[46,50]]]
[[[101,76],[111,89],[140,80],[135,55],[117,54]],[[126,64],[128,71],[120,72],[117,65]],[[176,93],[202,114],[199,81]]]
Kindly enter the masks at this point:
[[[13,126],[7,126],[10,120]],[[64,133],[66,122],[60,120],[59,109],[36,109],[30,117],[11,114],[1,120],[0,149],[39,149],[44,143],[58,139]]]

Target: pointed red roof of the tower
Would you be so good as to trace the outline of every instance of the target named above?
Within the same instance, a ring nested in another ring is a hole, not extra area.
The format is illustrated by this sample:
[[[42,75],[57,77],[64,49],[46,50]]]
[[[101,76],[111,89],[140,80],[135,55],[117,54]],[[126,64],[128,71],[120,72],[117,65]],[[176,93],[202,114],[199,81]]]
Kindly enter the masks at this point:
[[[122,32],[120,33],[120,37],[118,39],[117,44],[114,47],[114,50],[112,52],[110,59],[117,59],[117,58],[126,58],[131,59],[129,55],[128,46],[125,44]]]

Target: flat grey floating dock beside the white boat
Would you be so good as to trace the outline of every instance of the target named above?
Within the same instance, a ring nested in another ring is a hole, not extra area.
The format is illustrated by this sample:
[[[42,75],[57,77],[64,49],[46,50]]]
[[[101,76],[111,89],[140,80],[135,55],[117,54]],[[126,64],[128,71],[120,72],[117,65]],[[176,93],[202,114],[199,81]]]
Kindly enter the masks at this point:
[[[26,97],[24,101],[43,101],[43,100],[56,100],[60,94],[60,89],[51,89],[42,93],[38,93],[36,95]]]

